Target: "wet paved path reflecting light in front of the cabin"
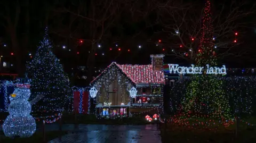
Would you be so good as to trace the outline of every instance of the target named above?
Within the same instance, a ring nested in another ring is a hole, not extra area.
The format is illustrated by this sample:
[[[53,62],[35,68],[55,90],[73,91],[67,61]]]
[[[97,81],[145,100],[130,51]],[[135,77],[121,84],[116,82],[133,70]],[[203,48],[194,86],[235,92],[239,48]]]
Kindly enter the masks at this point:
[[[73,128],[63,125],[63,130]],[[47,129],[46,130],[51,130]],[[79,132],[66,134],[49,143],[161,143],[156,125],[79,125]]]

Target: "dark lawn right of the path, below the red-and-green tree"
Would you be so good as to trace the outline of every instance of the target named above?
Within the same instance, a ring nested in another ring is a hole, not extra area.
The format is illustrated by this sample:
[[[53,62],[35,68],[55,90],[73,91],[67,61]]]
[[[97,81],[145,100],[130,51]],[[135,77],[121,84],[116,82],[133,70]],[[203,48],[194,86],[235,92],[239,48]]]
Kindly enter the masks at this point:
[[[164,125],[163,125],[164,126]],[[161,137],[163,143],[175,142],[256,142],[255,127],[244,126],[239,127],[237,136],[235,134],[235,125],[228,128],[218,128],[217,130],[209,129],[191,129],[186,127],[179,127],[175,125],[167,125],[166,131],[164,127],[161,128]]]

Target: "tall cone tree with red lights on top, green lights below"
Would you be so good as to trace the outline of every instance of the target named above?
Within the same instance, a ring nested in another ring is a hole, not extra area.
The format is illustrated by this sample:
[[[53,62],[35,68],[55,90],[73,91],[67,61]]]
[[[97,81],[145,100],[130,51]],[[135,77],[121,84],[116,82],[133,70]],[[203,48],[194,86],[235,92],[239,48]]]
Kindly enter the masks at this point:
[[[213,48],[214,37],[210,1],[205,4],[202,23],[202,35],[195,58],[195,66],[205,67],[207,64],[217,66],[217,57]],[[193,75],[187,88],[183,110],[195,117],[230,119],[230,107],[225,90],[223,90],[223,81],[214,74]]]

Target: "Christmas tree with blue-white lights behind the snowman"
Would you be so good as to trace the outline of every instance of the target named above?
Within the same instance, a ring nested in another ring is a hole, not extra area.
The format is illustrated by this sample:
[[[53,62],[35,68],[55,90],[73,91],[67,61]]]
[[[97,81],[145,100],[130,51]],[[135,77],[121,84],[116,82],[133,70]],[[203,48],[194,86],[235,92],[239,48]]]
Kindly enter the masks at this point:
[[[52,53],[52,44],[45,29],[45,36],[39,43],[36,55],[27,65],[26,76],[31,81],[31,98],[44,98],[33,108],[33,112],[62,112],[71,103],[71,89],[68,76],[58,58]]]

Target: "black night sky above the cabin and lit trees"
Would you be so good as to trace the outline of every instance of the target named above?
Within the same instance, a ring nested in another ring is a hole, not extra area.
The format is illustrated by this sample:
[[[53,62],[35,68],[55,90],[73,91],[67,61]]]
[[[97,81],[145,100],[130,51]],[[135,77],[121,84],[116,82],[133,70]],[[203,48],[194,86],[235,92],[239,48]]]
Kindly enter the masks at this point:
[[[15,56],[19,56],[25,65],[27,60],[31,60],[30,54],[33,58],[47,26],[54,45],[53,52],[60,58],[60,62],[68,73],[73,72],[71,68],[87,66],[90,54],[95,56],[94,66],[97,69],[106,68],[114,61],[119,64],[149,64],[149,55],[160,53],[166,54],[165,63],[188,65],[191,63],[190,55],[177,57],[171,54],[172,49],[181,53],[188,52],[188,49],[180,49],[181,41],[171,34],[175,30],[170,27],[175,25],[174,18],[177,18],[176,20],[180,23],[179,16],[187,10],[186,27],[181,26],[179,32],[190,34],[190,37],[184,37],[182,40],[185,41],[185,45],[192,43],[191,47],[196,51],[196,41],[199,35],[188,33],[184,28],[192,29],[193,21],[200,20],[205,1],[172,1],[169,7],[164,7],[166,2],[162,0],[128,3],[115,0],[110,4],[110,1],[100,0],[86,2],[1,1],[3,11],[0,13],[0,53],[3,55],[2,61],[13,63],[14,72],[17,71],[17,66],[15,66],[17,57]],[[212,1],[213,19],[219,16],[222,23],[227,22],[225,21],[227,15],[233,13],[235,7],[242,3],[241,1],[233,2],[234,5],[230,5],[230,1]],[[239,6],[239,11],[244,15],[238,15],[238,18],[234,16],[236,14],[232,15],[235,20],[228,22],[232,28],[216,40],[216,42],[228,41],[230,44],[227,47],[234,46],[229,50],[231,54],[219,59],[219,63],[226,64],[227,68],[256,67],[254,2],[243,1],[243,3],[243,6]],[[106,5],[110,5],[109,9]],[[170,6],[174,6],[175,9],[170,9]],[[222,9],[222,15],[218,15]],[[79,14],[78,11],[80,11]],[[92,11],[98,23],[95,19],[90,20]],[[170,11],[177,11],[177,13],[174,13],[172,17]],[[103,20],[103,32],[102,25],[100,25],[102,19],[105,19]],[[213,27],[217,27],[218,24],[214,21]],[[234,35],[235,32],[238,32],[237,37]],[[218,37],[218,33],[215,36]],[[191,37],[195,38],[194,43],[191,42]],[[238,45],[233,43],[234,40],[238,40]],[[15,44],[19,45],[19,51],[14,48]],[[225,48],[218,48],[217,53],[221,54],[226,51]]]

